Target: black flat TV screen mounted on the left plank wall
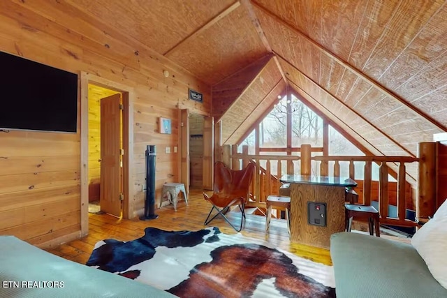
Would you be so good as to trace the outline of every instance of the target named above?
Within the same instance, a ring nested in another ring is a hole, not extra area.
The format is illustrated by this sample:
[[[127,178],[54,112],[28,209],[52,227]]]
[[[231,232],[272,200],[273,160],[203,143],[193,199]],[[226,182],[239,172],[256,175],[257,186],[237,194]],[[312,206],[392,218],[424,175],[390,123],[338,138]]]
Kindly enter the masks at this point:
[[[0,129],[76,132],[78,75],[0,52]]]

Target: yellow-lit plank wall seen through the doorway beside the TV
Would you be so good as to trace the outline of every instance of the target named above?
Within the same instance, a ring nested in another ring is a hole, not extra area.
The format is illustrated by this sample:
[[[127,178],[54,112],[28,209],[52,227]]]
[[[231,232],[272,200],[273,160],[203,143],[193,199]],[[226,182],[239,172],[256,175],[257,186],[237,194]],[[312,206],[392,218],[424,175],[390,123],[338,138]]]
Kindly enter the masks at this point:
[[[117,91],[89,84],[89,202],[99,200],[101,179],[101,98]]]

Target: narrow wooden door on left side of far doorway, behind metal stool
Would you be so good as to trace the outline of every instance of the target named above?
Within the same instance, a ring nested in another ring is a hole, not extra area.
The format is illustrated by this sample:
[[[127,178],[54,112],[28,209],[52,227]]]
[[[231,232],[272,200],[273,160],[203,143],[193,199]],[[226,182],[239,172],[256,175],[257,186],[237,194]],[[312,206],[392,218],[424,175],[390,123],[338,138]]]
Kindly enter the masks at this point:
[[[181,133],[180,133],[180,179],[186,188],[186,194],[189,193],[189,110],[181,110],[180,115]]]

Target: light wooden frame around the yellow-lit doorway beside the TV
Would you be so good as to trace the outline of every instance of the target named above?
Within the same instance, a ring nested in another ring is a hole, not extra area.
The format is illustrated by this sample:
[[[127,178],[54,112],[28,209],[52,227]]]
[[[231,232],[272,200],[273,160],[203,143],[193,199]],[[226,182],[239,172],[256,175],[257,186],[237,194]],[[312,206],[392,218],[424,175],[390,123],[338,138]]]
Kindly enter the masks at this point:
[[[91,73],[81,72],[80,78],[80,211],[81,237],[89,233],[89,84],[122,92],[123,114],[123,218],[133,218],[131,200],[133,186],[133,100],[132,87],[112,82]]]

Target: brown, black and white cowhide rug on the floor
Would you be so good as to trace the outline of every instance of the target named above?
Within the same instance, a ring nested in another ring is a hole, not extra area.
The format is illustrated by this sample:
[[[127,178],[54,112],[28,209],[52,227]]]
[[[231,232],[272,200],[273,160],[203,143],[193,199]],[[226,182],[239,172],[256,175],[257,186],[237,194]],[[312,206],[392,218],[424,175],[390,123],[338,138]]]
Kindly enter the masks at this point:
[[[218,228],[99,241],[87,265],[179,297],[335,297],[332,267]]]

